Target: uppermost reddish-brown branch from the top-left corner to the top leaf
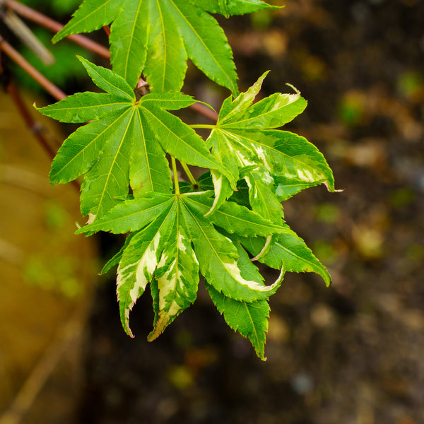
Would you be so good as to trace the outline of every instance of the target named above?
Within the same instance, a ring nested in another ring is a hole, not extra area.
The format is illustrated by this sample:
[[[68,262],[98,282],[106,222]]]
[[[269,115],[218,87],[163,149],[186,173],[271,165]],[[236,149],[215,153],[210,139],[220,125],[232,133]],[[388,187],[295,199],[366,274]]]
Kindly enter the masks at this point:
[[[32,20],[33,22],[41,25],[42,27],[47,28],[47,30],[51,30],[53,33],[59,33],[59,31],[64,28],[64,25],[57,22],[57,20],[49,18],[48,16],[45,16],[38,11],[35,11],[33,8],[25,6],[25,4],[19,3],[19,1],[4,0],[1,3],[4,4],[4,6],[11,8],[13,11],[16,11],[16,13],[18,13],[20,16],[23,16],[28,20]],[[90,52],[96,53],[101,57],[105,57],[105,59],[110,59],[109,50],[106,47],[100,45],[98,42],[90,40],[90,38],[88,37],[84,37],[83,35],[79,34],[74,34],[68,35],[68,37],[66,38],[69,38],[69,40],[75,42],[77,45],[80,45],[81,47],[90,50]]]

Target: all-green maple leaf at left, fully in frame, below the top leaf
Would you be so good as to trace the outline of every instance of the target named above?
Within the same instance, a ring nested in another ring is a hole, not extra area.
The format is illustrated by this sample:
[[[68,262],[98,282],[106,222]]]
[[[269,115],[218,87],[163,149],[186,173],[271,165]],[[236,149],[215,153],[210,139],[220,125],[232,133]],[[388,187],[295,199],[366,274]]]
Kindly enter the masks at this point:
[[[128,196],[129,187],[134,196],[170,193],[172,180],[165,153],[228,174],[194,130],[166,111],[191,105],[192,97],[161,93],[137,101],[124,78],[86,59],[81,61],[93,82],[107,93],[77,93],[39,110],[61,122],[91,120],[64,141],[49,175],[57,184],[85,174],[83,215],[105,215]]]

